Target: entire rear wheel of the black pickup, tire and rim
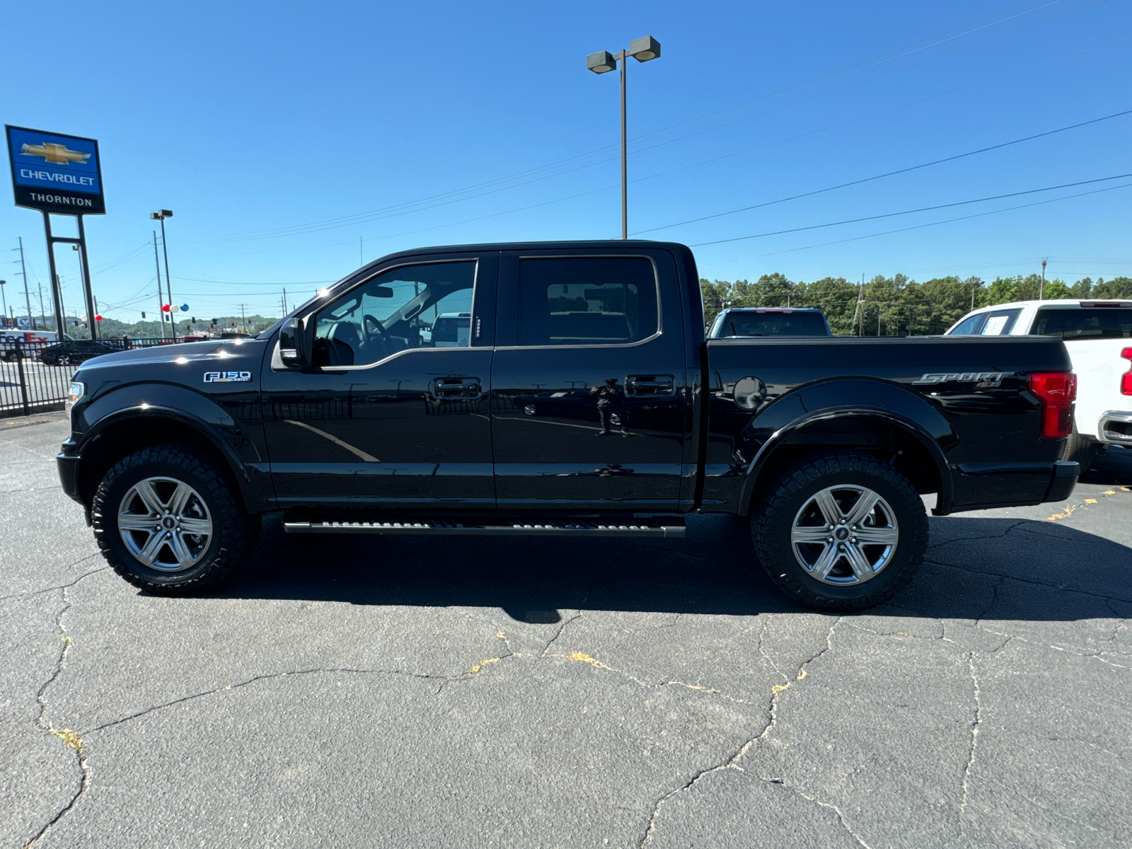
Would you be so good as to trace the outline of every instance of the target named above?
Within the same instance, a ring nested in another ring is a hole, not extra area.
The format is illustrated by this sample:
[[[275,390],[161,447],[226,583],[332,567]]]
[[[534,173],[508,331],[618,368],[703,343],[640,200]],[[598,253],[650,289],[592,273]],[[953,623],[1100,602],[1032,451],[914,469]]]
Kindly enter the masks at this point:
[[[753,509],[755,554],[779,588],[820,610],[861,610],[912,580],[927,550],[919,494],[891,464],[859,452],[788,468]]]

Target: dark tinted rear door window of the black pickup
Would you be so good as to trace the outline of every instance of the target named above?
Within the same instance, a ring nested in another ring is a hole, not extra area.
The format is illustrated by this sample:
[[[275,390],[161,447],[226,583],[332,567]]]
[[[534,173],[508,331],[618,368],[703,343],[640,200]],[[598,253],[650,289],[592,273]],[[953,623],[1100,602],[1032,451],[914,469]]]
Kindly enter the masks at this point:
[[[520,260],[521,345],[624,345],[658,328],[657,274],[644,257]]]

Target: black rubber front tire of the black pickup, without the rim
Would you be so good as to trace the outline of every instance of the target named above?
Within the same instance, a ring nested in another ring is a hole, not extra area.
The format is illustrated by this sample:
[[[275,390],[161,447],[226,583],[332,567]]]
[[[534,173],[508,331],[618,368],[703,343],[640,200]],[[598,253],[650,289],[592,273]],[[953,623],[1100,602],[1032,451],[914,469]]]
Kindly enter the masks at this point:
[[[153,477],[188,483],[207,505],[213,535],[204,556],[183,572],[162,572],[138,560],[118,529],[118,509],[127,491]],[[259,516],[249,515],[228,470],[189,445],[142,448],[122,457],[103,477],[91,509],[102,556],[135,586],[160,595],[195,595],[228,580],[243,563],[259,535]]]

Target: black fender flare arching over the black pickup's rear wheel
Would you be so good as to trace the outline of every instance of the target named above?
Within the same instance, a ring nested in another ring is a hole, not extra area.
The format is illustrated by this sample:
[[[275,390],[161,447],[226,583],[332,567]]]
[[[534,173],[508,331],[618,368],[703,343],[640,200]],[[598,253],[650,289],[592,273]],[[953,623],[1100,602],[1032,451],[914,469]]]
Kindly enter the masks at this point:
[[[931,403],[909,389],[882,380],[831,379],[811,384],[782,396],[756,413],[743,431],[743,443],[752,456],[739,497],[747,513],[751,497],[774,449],[798,430],[818,421],[869,418],[902,428],[924,446],[940,474],[936,515],[949,512],[952,480],[946,453],[959,444],[951,423]]]

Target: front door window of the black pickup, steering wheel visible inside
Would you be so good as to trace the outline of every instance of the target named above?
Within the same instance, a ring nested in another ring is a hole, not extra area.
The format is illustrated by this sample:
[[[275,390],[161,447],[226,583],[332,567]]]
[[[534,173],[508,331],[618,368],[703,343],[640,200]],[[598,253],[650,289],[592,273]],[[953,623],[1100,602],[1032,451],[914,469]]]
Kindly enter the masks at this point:
[[[474,283],[474,261],[371,277],[315,317],[314,365],[369,366],[415,348],[466,348]]]

